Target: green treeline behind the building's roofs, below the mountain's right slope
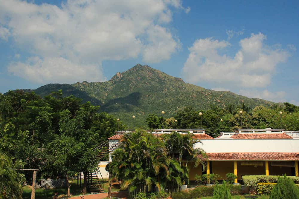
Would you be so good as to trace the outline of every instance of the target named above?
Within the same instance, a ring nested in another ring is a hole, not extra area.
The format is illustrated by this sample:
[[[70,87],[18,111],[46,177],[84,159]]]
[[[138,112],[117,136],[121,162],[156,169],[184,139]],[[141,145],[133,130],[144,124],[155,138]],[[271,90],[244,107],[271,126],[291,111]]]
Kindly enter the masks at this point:
[[[160,129],[162,126],[164,129],[206,129],[207,133],[216,136],[219,132],[231,132],[235,129],[299,130],[298,118],[299,107],[285,102],[284,106],[274,104],[269,108],[257,106],[254,109],[249,108],[245,103],[240,104],[239,107],[230,104],[224,109],[215,104],[208,110],[185,107],[172,118],[162,119],[152,114],[146,121],[148,127],[152,129]]]

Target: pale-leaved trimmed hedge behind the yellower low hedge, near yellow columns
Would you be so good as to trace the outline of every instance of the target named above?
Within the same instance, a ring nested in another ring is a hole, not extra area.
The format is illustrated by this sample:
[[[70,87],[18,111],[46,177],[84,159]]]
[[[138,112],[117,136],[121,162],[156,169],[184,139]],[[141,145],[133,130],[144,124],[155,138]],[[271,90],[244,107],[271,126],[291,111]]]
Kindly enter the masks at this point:
[[[260,182],[271,182],[271,183],[277,183],[278,177],[281,177],[280,175],[244,175],[242,177],[242,180],[245,184],[245,186],[248,187],[256,187],[257,183]],[[299,177],[296,176],[288,176],[291,178],[295,183],[299,183]]]

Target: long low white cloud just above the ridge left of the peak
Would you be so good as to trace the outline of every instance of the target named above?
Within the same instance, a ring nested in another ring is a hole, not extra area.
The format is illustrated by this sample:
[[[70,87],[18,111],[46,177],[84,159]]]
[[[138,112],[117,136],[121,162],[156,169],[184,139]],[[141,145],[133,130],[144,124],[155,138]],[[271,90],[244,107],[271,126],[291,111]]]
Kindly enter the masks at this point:
[[[31,57],[25,63],[10,63],[8,71],[16,76],[37,83],[74,83],[77,81],[85,81],[86,77],[89,81],[106,80],[100,67],[93,64],[79,65],[64,58],[45,58]]]

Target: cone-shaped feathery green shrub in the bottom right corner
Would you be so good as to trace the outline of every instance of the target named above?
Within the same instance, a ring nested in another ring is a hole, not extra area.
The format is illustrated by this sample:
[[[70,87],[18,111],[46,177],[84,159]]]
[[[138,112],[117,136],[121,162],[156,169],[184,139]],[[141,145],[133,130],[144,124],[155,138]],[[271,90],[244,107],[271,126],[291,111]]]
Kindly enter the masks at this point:
[[[286,177],[278,178],[277,184],[273,187],[269,199],[299,199],[299,190],[292,179]]]

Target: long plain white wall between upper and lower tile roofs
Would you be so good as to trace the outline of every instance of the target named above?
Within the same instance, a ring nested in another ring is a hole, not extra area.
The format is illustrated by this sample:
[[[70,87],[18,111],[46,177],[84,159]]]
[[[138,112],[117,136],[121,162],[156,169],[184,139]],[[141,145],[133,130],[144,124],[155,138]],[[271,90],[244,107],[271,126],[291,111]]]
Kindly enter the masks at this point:
[[[195,148],[217,152],[299,152],[299,139],[201,140]]]

